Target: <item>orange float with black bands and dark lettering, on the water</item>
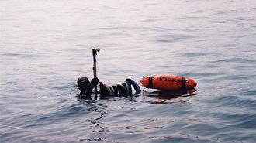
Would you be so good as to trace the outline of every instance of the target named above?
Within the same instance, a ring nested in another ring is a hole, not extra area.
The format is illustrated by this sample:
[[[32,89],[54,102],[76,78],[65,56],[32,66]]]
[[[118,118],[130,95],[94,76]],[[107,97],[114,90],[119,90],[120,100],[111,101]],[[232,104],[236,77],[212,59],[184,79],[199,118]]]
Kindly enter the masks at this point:
[[[189,90],[196,87],[195,80],[192,78],[168,74],[147,76],[142,78],[140,83],[144,87],[158,90]]]

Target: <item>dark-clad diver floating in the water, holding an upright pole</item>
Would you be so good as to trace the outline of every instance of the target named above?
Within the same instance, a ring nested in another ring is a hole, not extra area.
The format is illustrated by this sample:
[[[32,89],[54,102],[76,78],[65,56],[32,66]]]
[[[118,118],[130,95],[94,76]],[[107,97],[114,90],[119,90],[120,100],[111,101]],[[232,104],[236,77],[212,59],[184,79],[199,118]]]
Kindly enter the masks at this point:
[[[131,77],[126,78],[125,82],[122,84],[116,84],[112,86],[100,82],[97,77],[93,78],[91,82],[88,80],[87,77],[79,77],[78,89],[81,91],[81,93],[78,94],[78,98],[92,99],[92,89],[98,84],[100,99],[106,99],[110,97],[132,96],[132,86],[135,90],[135,94],[140,94],[141,92],[140,86]]]

